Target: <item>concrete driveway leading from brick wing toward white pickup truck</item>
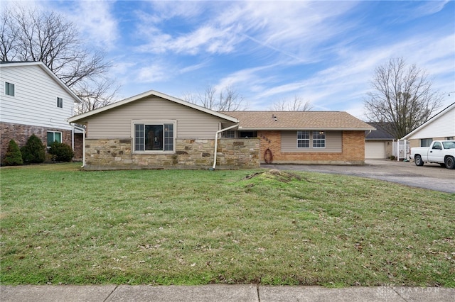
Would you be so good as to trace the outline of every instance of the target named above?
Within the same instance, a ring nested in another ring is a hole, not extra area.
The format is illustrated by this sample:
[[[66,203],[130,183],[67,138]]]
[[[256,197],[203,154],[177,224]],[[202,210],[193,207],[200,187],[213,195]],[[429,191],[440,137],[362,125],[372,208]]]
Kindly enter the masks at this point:
[[[422,167],[417,167],[414,162],[365,160],[365,165],[363,166],[262,164],[261,167],[266,169],[346,174],[381,179],[434,191],[455,193],[455,169],[449,170],[439,166],[439,164],[426,163]]]

